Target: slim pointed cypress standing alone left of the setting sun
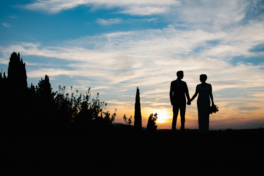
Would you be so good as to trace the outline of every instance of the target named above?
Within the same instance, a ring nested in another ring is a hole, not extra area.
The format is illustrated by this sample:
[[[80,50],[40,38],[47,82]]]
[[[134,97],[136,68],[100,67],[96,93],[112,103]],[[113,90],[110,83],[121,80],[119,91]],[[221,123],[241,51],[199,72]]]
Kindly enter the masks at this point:
[[[139,97],[138,87],[137,87],[136,102],[135,102],[134,128],[137,131],[142,131],[142,116],[140,109],[140,97]]]

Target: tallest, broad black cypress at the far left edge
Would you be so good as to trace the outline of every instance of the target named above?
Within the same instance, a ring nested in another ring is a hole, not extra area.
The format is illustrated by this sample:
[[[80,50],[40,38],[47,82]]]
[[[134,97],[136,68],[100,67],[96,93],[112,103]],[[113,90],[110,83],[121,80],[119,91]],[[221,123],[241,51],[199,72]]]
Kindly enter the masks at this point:
[[[21,131],[28,118],[27,75],[20,54],[13,52],[9,58],[8,75],[1,73],[1,117],[5,130]]]

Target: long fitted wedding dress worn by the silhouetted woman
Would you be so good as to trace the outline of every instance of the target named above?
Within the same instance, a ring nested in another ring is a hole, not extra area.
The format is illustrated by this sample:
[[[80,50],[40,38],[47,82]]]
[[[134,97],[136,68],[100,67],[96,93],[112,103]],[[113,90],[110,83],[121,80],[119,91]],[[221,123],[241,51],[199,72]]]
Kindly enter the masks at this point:
[[[207,133],[209,131],[209,107],[211,104],[209,93],[212,92],[211,84],[202,87],[201,84],[196,86],[199,93],[197,98],[199,132]]]

